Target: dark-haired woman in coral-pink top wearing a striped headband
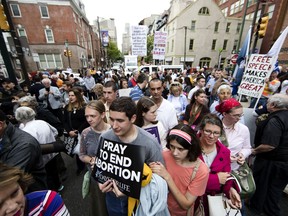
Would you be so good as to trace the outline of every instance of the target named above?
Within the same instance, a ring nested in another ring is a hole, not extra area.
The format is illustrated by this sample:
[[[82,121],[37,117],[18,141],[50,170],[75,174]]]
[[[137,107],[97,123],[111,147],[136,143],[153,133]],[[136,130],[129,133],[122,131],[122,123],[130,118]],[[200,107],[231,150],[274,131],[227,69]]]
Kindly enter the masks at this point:
[[[167,148],[163,152],[166,168],[160,162],[153,162],[150,167],[168,184],[170,214],[193,215],[194,202],[205,193],[209,174],[207,166],[198,159],[199,140],[188,125],[178,124],[167,136]],[[194,169],[196,175],[192,178]]]

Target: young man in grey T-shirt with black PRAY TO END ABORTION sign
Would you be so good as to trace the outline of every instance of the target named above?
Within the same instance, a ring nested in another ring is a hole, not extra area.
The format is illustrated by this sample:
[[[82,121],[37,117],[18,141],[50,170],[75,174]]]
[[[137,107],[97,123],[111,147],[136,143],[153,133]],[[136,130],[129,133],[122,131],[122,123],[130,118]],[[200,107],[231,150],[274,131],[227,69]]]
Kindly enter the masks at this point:
[[[163,162],[161,145],[155,137],[134,125],[136,105],[120,97],[110,106],[112,130],[99,139],[95,173],[100,190],[106,193],[109,215],[127,216],[127,196],[138,199],[144,163]]]

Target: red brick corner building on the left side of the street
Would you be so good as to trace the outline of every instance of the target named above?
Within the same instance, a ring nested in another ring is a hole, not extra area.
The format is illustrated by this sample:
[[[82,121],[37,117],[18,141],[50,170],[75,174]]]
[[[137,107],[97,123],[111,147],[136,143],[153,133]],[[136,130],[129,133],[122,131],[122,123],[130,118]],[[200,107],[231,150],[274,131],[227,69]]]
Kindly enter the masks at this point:
[[[27,72],[97,67],[99,40],[89,25],[81,0],[7,3]]]

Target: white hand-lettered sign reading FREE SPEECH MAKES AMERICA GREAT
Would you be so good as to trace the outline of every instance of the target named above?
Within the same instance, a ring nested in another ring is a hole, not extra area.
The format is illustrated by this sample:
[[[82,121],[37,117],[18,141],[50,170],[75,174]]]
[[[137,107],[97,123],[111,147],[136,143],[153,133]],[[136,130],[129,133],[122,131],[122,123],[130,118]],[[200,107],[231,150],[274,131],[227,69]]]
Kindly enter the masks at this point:
[[[277,56],[251,55],[246,65],[238,93],[240,95],[260,98],[265,87],[265,79],[269,78],[276,60]]]

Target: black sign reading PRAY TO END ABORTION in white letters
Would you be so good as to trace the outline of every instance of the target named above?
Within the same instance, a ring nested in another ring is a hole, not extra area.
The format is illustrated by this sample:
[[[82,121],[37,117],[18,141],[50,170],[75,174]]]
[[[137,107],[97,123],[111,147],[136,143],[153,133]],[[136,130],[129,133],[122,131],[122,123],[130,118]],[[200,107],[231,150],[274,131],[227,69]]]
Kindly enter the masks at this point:
[[[100,183],[114,179],[119,190],[138,199],[145,158],[145,147],[108,139],[101,142],[92,177]]]

